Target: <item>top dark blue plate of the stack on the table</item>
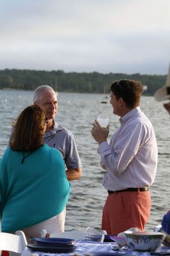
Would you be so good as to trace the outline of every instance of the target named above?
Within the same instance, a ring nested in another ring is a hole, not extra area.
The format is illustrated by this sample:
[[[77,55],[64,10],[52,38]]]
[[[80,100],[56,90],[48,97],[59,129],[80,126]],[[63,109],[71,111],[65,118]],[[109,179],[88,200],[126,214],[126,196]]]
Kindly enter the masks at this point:
[[[68,239],[68,238],[54,238],[54,237],[34,237],[30,239],[31,241],[35,241],[36,243],[41,243],[41,244],[49,244],[50,245],[58,245],[58,244],[63,244],[63,245],[73,245],[75,244],[74,239]]]

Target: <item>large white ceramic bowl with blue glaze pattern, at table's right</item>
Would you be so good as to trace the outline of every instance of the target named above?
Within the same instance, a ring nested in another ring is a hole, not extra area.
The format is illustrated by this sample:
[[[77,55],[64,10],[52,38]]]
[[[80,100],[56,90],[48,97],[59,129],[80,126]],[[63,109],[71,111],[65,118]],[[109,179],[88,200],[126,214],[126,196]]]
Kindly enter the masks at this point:
[[[166,235],[160,232],[132,232],[125,231],[125,239],[132,250],[139,252],[154,252]]]

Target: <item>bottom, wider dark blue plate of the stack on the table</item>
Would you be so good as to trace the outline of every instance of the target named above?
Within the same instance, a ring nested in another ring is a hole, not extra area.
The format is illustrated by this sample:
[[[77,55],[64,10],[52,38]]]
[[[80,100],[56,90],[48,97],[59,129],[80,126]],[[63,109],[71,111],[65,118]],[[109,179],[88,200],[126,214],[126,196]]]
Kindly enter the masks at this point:
[[[32,251],[36,251],[36,252],[63,252],[63,253],[67,253],[67,252],[72,252],[73,250],[75,250],[76,246],[75,245],[59,245],[59,246],[50,246],[50,244],[48,244],[48,246],[46,244],[27,244],[27,248],[29,248]]]

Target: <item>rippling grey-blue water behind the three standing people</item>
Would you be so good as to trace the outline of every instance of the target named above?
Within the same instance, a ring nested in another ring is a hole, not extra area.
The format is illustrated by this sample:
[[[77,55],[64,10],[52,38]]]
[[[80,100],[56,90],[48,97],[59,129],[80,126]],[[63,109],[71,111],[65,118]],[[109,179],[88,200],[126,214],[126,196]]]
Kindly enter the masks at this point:
[[[8,144],[12,119],[32,104],[33,92],[0,90],[0,157]],[[97,143],[91,136],[93,120],[102,112],[109,116],[110,134],[119,127],[119,117],[112,114],[111,104],[101,104],[101,94],[59,93],[56,120],[72,131],[82,161],[82,178],[72,181],[72,191],[66,207],[65,230],[83,231],[88,226],[100,228],[102,209],[107,191],[101,181],[104,171],[100,167]],[[109,101],[109,99],[108,99]],[[143,97],[141,109],[150,118],[158,143],[158,168],[151,186],[151,216],[146,230],[160,223],[169,210],[169,146],[170,118],[161,102]],[[110,136],[111,136],[110,135]],[[111,137],[109,137],[111,138]]]

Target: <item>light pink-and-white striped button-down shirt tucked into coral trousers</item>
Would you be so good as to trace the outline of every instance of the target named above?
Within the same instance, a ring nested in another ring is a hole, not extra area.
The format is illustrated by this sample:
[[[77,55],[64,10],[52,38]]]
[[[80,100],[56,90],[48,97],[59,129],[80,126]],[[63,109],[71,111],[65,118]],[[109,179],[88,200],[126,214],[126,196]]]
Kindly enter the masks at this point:
[[[102,180],[107,190],[144,188],[153,184],[157,172],[157,141],[150,120],[139,107],[120,118],[120,128],[110,143],[98,146]]]

